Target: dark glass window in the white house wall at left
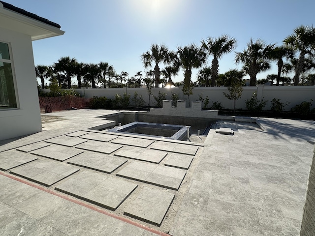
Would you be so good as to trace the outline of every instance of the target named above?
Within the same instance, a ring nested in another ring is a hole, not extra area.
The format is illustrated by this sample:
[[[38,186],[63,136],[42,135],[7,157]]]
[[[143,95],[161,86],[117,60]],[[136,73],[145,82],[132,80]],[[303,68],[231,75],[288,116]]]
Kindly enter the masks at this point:
[[[0,42],[0,109],[17,108],[9,45]]]

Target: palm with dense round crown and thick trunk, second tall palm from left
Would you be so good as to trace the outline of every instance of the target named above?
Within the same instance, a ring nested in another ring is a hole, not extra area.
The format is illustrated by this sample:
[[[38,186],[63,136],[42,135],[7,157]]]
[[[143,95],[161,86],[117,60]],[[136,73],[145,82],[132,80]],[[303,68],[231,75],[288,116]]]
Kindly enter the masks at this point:
[[[191,88],[191,69],[199,68],[206,62],[207,55],[203,50],[195,44],[189,44],[184,48],[178,47],[178,62],[184,69],[184,94],[188,95],[188,103],[190,106],[189,95],[192,94]]]

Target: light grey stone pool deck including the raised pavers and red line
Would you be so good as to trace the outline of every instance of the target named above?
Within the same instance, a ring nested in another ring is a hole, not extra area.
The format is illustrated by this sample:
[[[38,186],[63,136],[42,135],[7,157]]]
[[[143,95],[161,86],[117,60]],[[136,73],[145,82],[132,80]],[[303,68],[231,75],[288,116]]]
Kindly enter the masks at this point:
[[[315,121],[223,120],[234,135],[204,143],[90,129],[117,112],[43,114],[0,141],[1,236],[299,234]]]

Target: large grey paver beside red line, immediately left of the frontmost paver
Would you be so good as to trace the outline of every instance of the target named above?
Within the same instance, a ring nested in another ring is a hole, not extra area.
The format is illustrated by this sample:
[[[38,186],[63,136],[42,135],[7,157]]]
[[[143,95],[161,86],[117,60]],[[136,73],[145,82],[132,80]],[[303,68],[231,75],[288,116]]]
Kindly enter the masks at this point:
[[[95,181],[97,179],[98,181]],[[101,207],[116,210],[138,185],[126,180],[94,174],[87,171],[73,176],[55,189]]]

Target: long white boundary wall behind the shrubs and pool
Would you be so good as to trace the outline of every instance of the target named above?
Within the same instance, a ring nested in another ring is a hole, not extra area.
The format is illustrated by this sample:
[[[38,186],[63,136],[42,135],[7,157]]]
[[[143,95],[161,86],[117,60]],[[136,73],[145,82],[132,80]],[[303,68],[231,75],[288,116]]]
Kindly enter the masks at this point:
[[[182,91],[183,87],[178,88],[152,88],[152,95],[150,96],[150,106],[155,105],[155,99],[153,97],[158,97],[158,92],[166,93],[166,100],[171,100],[172,93],[177,93],[179,95],[179,100],[187,100],[188,96],[184,95]],[[44,91],[49,91],[49,89],[44,89]],[[82,96],[90,98],[93,96],[105,96],[107,98],[113,98],[116,94],[123,94],[126,92],[130,94],[130,103],[131,98],[134,95],[134,92],[138,92],[138,96],[142,95],[145,100],[145,105],[148,104],[149,95],[146,88],[122,88],[122,89],[91,89],[83,88],[76,89]],[[203,98],[208,96],[209,106],[213,102],[220,102],[222,107],[226,109],[233,109],[233,101],[227,99],[223,92],[228,93],[226,87],[196,87],[192,89],[192,95],[190,95],[189,100],[196,101],[199,100],[199,95],[202,95]],[[315,108],[315,86],[264,86],[258,85],[257,87],[243,87],[242,96],[236,101],[236,109],[246,109],[245,101],[250,99],[253,92],[257,92],[258,99],[268,100],[268,103],[264,110],[269,110],[271,107],[271,100],[273,98],[278,98],[282,102],[290,102],[284,109],[290,110],[297,104],[300,104],[303,101],[310,102],[313,99],[312,108]],[[187,102],[188,103],[188,102]],[[188,104],[187,104],[188,106]]]

